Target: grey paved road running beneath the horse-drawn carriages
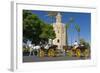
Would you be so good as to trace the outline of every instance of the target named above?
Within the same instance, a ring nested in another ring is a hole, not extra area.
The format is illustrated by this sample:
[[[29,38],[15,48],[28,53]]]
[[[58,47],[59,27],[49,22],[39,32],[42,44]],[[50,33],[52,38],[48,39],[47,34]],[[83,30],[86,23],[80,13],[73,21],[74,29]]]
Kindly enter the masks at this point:
[[[36,57],[36,56],[23,56],[23,62],[41,62],[41,61],[62,61],[62,60],[80,60],[77,57]]]

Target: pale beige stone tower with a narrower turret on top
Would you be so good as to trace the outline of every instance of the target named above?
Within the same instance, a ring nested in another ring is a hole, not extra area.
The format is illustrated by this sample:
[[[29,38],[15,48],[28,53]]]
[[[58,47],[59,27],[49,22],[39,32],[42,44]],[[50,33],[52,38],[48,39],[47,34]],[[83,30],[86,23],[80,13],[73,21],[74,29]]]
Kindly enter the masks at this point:
[[[58,49],[63,49],[66,45],[66,28],[61,22],[61,14],[57,13],[56,22],[53,23],[53,28],[56,33],[56,38],[53,40],[53,44],[58,46]]]

